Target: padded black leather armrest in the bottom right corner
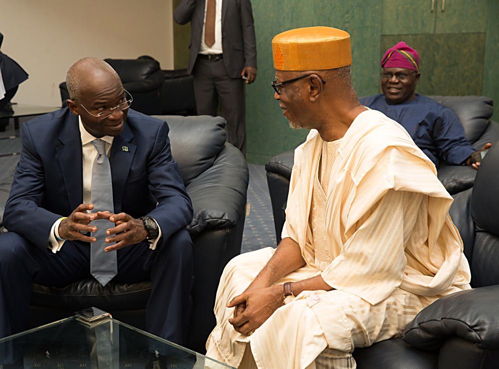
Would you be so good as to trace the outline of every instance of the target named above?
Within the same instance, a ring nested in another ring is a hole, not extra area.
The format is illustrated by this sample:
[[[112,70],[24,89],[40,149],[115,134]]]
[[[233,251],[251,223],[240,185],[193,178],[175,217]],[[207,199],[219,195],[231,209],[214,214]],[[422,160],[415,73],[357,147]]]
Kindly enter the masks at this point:
[[[438,350],[459,337],[487,350],[499,349],[499,285],[457,292],[423,309],[409,324],[404,341]]]

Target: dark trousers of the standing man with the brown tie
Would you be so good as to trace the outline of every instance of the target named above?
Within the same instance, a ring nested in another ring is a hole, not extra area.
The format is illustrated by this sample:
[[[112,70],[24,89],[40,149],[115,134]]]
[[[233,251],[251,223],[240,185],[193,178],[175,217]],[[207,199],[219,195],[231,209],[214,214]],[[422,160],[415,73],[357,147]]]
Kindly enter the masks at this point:
[[[229,77],[223,59],[198,57],[192,74],[198,115],[216,116],[220,99],[228,141],[246,156],[244,80]]]

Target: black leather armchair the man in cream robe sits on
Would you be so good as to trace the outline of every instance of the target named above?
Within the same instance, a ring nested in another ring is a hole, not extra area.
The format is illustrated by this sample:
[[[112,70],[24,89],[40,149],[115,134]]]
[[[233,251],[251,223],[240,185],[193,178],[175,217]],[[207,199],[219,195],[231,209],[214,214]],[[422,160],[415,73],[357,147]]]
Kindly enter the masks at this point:
[[[359,368],[497,368],[499,363],[499,147],[473,188],[454,195],[450,214],[470,262],[474,289],[423,309],[404,337],[353,353]],[[409,345],[410,344],[410,345]]]

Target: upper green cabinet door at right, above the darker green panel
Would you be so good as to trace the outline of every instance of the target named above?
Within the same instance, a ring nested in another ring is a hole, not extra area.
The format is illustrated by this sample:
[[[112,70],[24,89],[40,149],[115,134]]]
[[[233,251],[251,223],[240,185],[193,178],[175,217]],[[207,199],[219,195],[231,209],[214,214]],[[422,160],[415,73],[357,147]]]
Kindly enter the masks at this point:
[[[442,11],[442,0],[439,0],[435,31],[437,33],[485,32],[488,1],[445,0]]]

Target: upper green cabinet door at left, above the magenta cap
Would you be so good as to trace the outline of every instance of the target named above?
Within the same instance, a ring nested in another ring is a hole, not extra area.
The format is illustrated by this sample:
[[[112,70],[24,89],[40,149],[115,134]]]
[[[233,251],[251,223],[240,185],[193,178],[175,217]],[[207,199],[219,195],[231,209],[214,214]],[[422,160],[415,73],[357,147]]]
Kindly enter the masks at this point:
[[[431,0],[384,0],[383,34],[433,33],[436,8]]]

